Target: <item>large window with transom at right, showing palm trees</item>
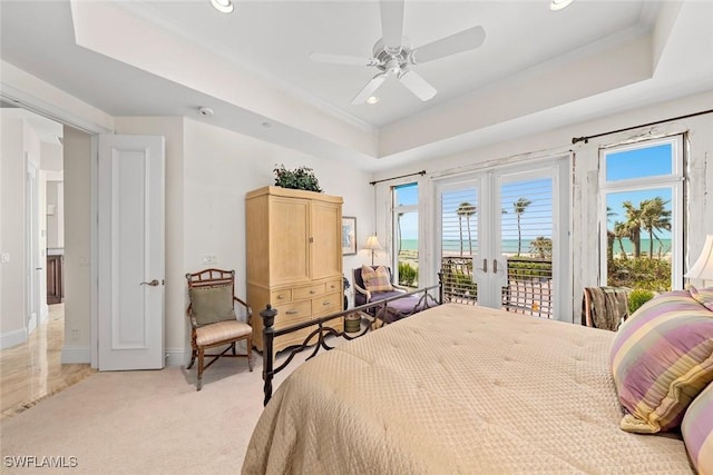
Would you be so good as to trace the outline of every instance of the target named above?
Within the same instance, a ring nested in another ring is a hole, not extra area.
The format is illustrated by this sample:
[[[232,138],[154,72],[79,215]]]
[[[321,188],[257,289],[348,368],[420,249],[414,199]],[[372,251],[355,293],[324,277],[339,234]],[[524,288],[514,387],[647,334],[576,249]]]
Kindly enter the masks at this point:
[[[683,137],[600,151],[605,285],[666,291],[683,284]]]

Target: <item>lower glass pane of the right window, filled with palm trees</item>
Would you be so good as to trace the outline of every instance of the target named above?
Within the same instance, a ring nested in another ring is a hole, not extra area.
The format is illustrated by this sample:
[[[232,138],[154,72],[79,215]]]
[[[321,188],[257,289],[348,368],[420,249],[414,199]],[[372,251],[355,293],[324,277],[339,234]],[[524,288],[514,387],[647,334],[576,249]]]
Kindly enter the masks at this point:
[[[607,285],[671,290],[672,195],[670,187],[606,195]]]

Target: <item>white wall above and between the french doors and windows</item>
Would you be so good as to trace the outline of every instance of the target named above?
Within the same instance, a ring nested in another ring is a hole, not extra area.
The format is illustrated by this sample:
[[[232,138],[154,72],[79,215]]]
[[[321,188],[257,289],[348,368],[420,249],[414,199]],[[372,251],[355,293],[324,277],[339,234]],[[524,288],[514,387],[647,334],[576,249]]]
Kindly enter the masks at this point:
[[[706,234],[713,234],[713,195],[709,191],[713,187],[713,113],[688,119],[675,120],[666,125],[647,127],[642,130],[621,132],[592,139],[589,144],[572,145],[573,137],[596,135],[609,130],[622,129],[649,123],[657,120],[685,116],[699,111],[713,109],[713,92],[696,95],[674,101],[645,107],[628,112],[617,113],[585,123],[572,125],[545,133],[510,140],[501,137],[495,145],[468,150],[446,157],[434,157],[429,160],[380,171],[375,178],[388,178],[426,169],[427,178],[420,180],[420,199],[427,201],[427,212],[433,216],[432,179],[437,175],[455,174],[468,170],[469,167],[497,166],[505,159],[527,160],[533,156],[544,157],[557,151],[572,149],[575,152],[574,189],[573,189],[573,228],[572,228],[572,268],[574,279],[573,313],[577,311],[583,288],[596,286],[598,278],[598,254],[592,249],[598,248],[597,228],[597,167],[598,149],[600,146],[627,140],[641,133],[657,136],[672,131],[687,131],[687,215],[684,231],[687,261],[695,260]],[[389,185],[393,185],[389,184]],[[379,234],[388,232],[388,186],[380,187],[379,194]],[[430,246],[430,241],[424,243]]]

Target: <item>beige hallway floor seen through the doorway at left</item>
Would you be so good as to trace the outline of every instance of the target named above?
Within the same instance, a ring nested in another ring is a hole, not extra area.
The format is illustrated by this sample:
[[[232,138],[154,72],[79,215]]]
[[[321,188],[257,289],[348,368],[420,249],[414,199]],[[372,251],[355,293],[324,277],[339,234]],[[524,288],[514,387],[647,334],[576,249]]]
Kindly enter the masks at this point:
[[[27,343],[0,352],[0,419],[96,373],[88,364],[60,364],[64,320],[65,304],[50,305],[47,321]]]

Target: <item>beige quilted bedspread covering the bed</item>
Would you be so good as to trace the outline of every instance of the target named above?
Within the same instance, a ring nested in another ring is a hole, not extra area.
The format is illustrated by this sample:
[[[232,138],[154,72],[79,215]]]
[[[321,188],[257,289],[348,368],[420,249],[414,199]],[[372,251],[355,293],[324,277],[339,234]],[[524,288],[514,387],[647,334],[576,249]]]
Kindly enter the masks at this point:
[[[443,305],[282,383],[243,474],[691,474],[683,443],[618,428],[614,334]]]

